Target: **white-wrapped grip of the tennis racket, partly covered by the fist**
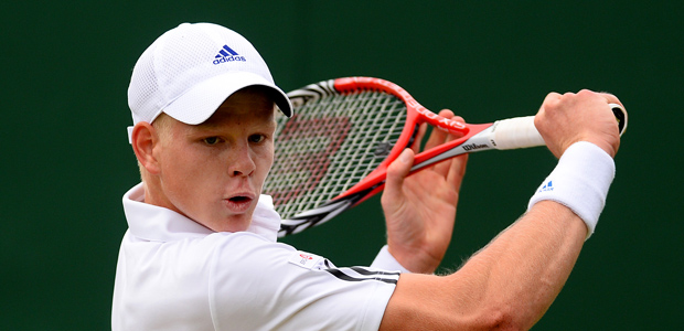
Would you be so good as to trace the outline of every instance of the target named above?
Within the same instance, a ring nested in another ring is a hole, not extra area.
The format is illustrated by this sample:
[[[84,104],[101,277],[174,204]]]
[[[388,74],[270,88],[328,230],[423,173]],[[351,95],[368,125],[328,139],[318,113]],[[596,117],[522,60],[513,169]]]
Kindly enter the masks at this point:
[[[627,111],[622,106],[610,104],[620,136],[627,129]],[[534,116],[502,119],[492,126],[491,142],[496,149],[515,149],[544,146],[544,139],[534,126]]]

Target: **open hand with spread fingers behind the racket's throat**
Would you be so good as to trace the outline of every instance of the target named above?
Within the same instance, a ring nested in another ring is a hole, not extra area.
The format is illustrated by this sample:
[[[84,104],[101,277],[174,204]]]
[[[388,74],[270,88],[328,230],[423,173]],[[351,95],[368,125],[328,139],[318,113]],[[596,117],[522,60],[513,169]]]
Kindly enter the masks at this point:
[[[439,115],[463,120],[447,109]],[[406,149],[387,169],[381,202],[389,253],[408,270],[429,274],[437,269],[451,242],[468,156],[440,162],[407,178],[426,129],[426,126],[420,128],[412,149]],[[459,137],[434,130],[425,149],[456,138]]]

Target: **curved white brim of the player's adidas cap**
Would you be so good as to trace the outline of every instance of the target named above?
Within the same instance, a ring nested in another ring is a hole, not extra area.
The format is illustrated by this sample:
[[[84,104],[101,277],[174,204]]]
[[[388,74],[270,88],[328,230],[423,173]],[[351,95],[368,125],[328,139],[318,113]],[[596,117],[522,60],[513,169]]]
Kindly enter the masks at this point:
[[[292,104],[278,86],[247,72],[229,72],[196,84],[163,107],[162,111],[184,124],[199,125],[210,118],[235,92],[255,85],[266,86],[276,92],[272,97],[280,111],[288,117],[292,115]]]

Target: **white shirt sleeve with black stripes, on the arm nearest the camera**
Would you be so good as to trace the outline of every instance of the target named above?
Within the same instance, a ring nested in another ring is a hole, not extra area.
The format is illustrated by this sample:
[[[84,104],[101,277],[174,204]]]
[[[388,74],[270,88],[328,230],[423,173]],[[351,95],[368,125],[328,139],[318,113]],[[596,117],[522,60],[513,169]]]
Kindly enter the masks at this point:
[[[377,330],[399,278],[247,233],[226,235],[210,275],[216,330]]]

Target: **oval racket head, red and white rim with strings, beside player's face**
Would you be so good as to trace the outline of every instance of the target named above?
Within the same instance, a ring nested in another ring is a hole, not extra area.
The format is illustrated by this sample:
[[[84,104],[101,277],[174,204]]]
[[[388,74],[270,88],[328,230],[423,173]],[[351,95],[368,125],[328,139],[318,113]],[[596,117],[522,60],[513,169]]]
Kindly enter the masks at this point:
[[[413,145],[419,116],[399,93],[388,92],[396,87],[378,78],[348,77],[288,94],[293,116],[277,117],[276,157],[263,190],[284,218],[280,236],[362,201],[375,188],[359,183]]]

